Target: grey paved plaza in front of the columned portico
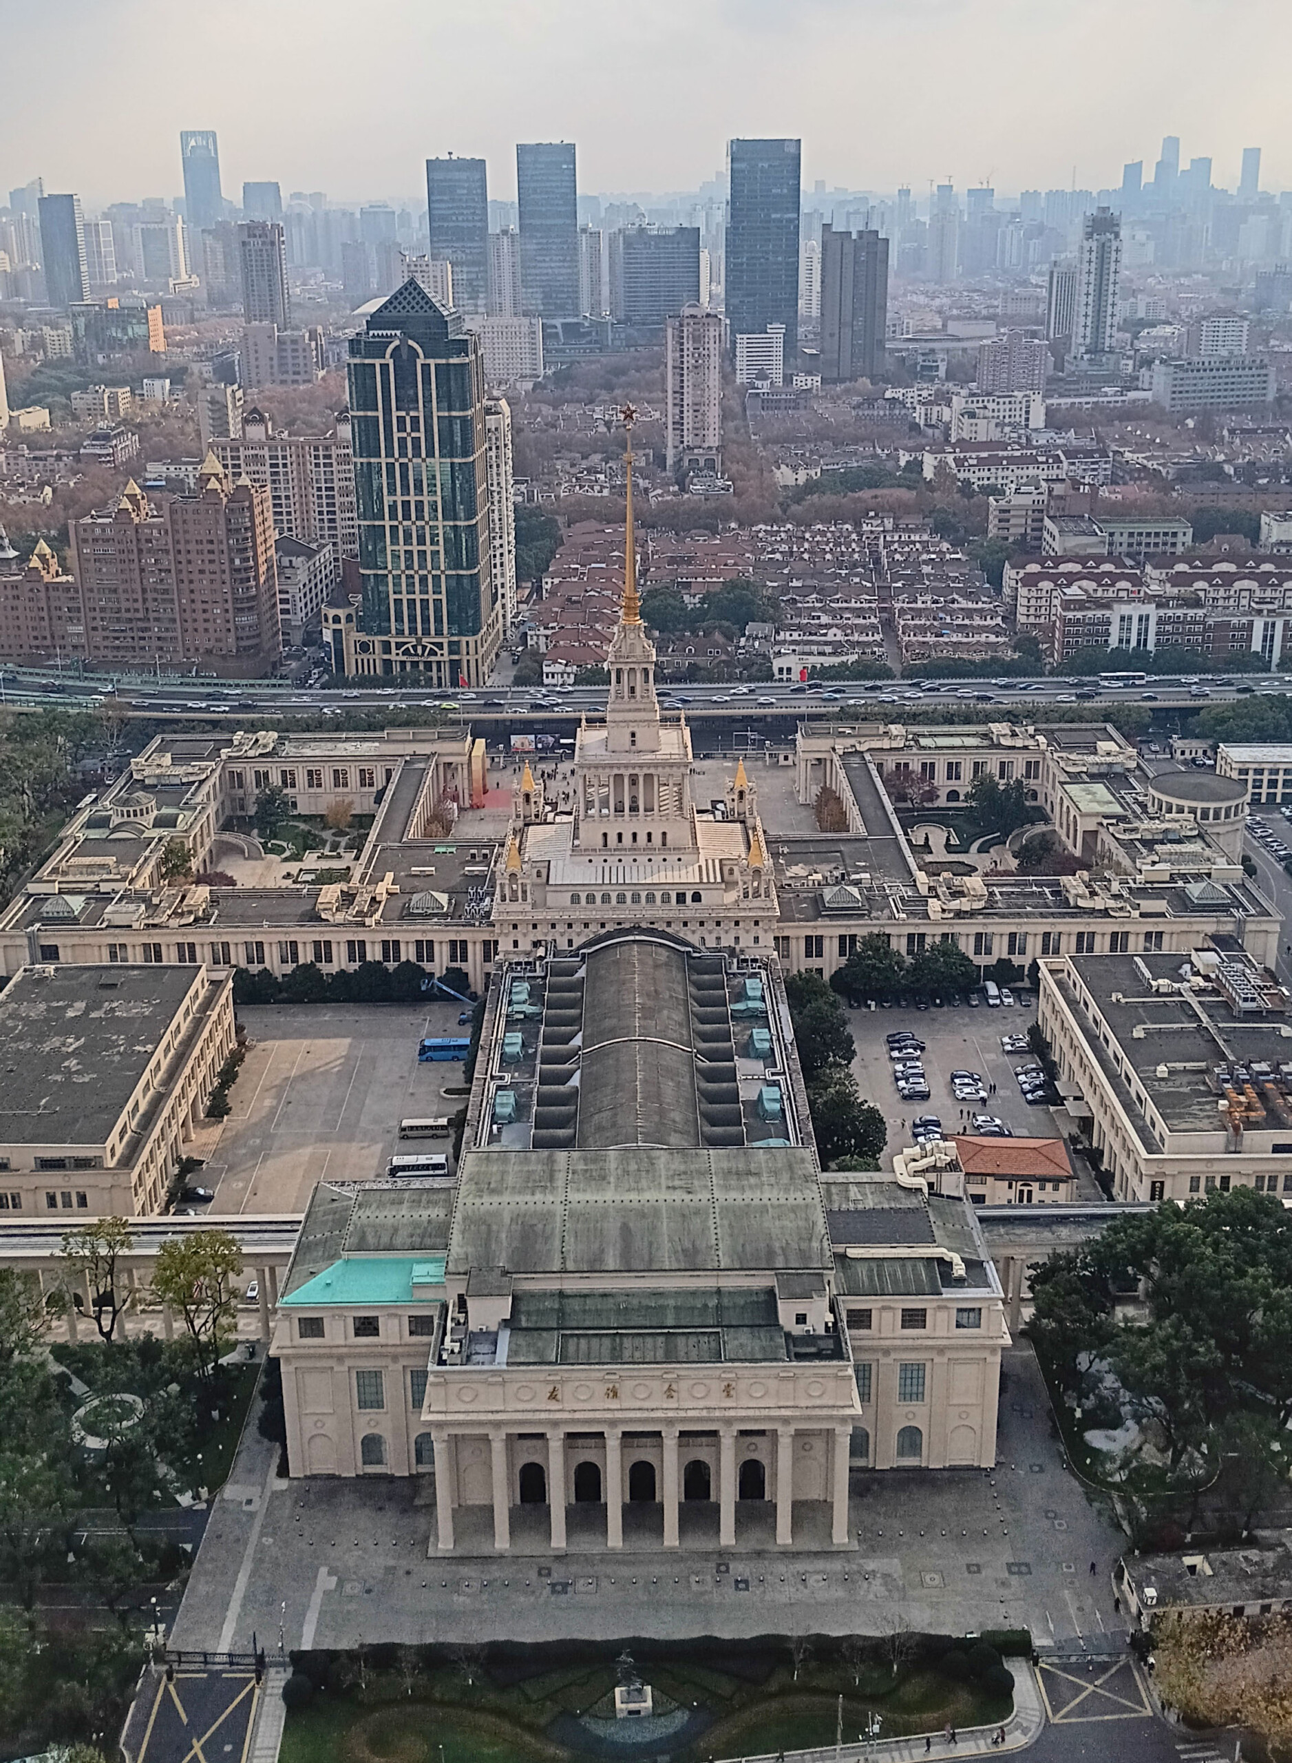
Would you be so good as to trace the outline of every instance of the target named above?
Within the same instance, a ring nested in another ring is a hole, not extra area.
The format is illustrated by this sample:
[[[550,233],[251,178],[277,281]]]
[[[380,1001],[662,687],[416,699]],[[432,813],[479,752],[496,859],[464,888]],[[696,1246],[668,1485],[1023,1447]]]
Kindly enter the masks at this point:
[[[680,1550],[626,1523],[610,1551],[601,1509],[571,1507],[569,1548],[552,1555],[539,1513],[518,1507],[516,1546],[497,1555],[486,1509],[467,1507],[458,1550],[439,1555],[432,1477],[280,1483],[275,1447],[250,1426],[173,1645],[243,1648],[280,1624],[289,1648],[906,1624],[1028,1627],[1042,1647],[1110,1650],[1125,1636],[1109,1580],[1119,1536],[1061,1467],[1031,1349],[1008,1350],[1005,1372],[998,1467],[855,1472],[848,1548],[828,1544],[827,1507],[795,1506],[790,1550],[774,1546],[770,1513],[742,1509],[737,1546],[721,1550],[716,1514],[684,1506]]]

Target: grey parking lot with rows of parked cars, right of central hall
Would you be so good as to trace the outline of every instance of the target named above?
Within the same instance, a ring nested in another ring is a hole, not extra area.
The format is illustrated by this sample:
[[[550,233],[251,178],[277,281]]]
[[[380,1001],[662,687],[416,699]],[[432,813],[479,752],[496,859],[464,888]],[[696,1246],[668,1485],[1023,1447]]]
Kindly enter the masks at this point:
[[[1019,1001],[1012,1008],[1001,1005],[996,1010],[985,1003],[978,1008],[961,1003],[941,1010],[899,1007],[850,1010],[848,1026],[857,1042],[853,1074],[867,1102],[883,1111],[888,1123],[888,1153],[911,1142],[910,1123],[920,1114],[936,1114],[948,1137],[973,1130],[968,1120],[971,1112],[996,1114],[1021,1139],[1063,1137],[1054,1112],[1024,1102],[1014,1075],[1015,1067],[1036,1063],[1033,1054],[1001,1051],[1001,1035],[1026,1035],[1035,1021],[1036,1007],[1031,996],[1026,996],[1026,1003]],[[904,1100],[894,1084],[887,1037],[904,1030],[925,1044],[920,1063],[929,1079],[927,1102]],[[984,1088],[996,1084],[996,1095],[989,1095],[985,1102],[959,1102],[952,1091],[950,1074],[955,1070],[978,1072]]]

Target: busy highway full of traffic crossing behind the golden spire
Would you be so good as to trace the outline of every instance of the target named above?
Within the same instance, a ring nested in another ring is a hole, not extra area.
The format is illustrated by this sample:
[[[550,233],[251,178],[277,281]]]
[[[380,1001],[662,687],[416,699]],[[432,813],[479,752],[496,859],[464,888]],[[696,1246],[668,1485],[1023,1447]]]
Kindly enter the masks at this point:
[[[1118,710],[1125,705],[1155,709],[1202,709],[1230,703],[1243,696],[1285,696],[1292,675],[1262,673],[1229,679],[1223,675],[1181,675],[1147,679],[1142,684],[1110,686],[1098,679],[980,679],[980,681],[837,681],[763,682],[758,686],[670,686],[661,689],[665,710],[686,710],[691,719],[739,723],[742,718],[786,716],[804,721],[828,721],[837,716],[885,719],[902,709],[934,703],[969,707],[998,703],[1010,709],[1043,712],[1056,703],[1098,703]],[[139,681],[109,675],[78,677],[51,670],[5,668],[0,672],[0,696],[16,709],[65,705],[79,709],[102,702],[129,707],[134,716],[301,716],[308,712],[340,716],[345,710],[446,710],[483,728],[516,718],[553,726],[575,725],[583,712],[605,709],[605,686],[516,688],[486,686],[479,691],[428,689],[416,681],[374,686],[317,686],[307,689],[268,681]]]

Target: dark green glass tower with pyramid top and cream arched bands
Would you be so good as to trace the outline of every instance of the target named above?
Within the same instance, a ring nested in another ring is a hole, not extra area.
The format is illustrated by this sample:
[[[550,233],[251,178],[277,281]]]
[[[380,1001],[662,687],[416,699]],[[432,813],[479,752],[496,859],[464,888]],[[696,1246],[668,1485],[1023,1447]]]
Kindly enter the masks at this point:
[[[354,673],[479,686],[499,651],[479,340],[404,282],[349,344],[363,601]]]

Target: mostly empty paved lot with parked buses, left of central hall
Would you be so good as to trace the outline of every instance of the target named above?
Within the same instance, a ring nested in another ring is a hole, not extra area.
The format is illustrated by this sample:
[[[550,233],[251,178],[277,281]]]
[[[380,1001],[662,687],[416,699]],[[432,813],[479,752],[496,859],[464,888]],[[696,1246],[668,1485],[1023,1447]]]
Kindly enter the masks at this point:
[[[305,1211],[316,1181],[382,1176],[400,1120],[453,1114],[465,1100],[444,1093],[462,1084],[462,1065],[418,1063],[423,1035],[469,1033],[457,1003],[240,1007],[238,1021],[250,1051],[233,1111],[192,1146],[206,1158],[194,1179],[215,1188],[212,1213]]]

